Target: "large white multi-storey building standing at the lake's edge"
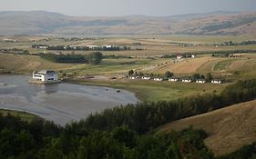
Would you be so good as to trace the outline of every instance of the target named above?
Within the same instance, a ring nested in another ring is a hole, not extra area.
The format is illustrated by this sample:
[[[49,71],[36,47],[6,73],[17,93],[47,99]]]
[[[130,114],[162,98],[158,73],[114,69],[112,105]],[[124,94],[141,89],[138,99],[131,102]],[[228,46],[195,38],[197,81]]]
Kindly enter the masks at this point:
[[[57,81],[57,74],[52,70],[42,70],[39,72],[33,72],[33,80],[42,81],[42,82],[54,82]]]

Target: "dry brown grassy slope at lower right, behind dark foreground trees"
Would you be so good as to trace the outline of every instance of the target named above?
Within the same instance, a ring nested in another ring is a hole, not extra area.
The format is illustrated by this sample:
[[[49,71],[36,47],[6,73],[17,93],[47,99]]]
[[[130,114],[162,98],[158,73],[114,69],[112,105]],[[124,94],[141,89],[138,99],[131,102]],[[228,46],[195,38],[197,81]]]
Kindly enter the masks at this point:
[[[200,114],[161,126],[160,131],[182,130],[192,125],[209,135],[205,144],[216,155],[229,154],[256,141],[256,100]]]

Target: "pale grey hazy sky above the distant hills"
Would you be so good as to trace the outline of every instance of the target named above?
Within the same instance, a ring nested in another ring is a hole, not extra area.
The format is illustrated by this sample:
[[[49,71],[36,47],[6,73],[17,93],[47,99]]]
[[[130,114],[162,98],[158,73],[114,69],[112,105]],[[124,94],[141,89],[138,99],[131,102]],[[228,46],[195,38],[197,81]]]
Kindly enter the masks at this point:
[[[183,15],[256,11],[256,0],[0,0],[0,11],[45,10],[65,15]]]

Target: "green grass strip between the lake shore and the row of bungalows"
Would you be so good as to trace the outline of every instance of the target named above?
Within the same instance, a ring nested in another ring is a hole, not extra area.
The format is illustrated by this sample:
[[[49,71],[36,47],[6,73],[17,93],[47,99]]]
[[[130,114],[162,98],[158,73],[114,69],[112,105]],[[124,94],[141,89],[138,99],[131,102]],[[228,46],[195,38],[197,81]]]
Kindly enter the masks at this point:
[[[191,94],[219,93],[226,84],[185,84],[169,81],[155,82],[143,80],[75,80],[67,81],[78,84],[100,85],[126,89],[136,94],[140,101],[156,102],[159,100],[175,100]]]

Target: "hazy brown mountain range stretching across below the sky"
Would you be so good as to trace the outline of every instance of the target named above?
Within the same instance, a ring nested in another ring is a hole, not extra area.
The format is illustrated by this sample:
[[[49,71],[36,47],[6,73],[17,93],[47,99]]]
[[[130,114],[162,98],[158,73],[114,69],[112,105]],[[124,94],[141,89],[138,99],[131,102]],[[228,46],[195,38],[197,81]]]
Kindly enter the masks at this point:
[[[256,12],[151,17],[0,12],[0,35],[256,35]]]

